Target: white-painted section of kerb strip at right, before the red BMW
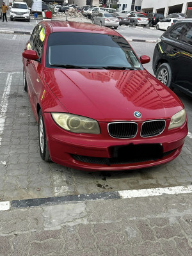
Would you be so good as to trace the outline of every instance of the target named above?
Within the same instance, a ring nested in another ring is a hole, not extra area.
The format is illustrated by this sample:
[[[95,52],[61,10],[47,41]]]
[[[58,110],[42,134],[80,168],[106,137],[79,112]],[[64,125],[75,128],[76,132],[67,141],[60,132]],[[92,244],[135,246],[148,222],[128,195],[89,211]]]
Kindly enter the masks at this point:
[[[177,195],[177,194],[189,194],[192,193],[192,186],[178,186],[170,188],[152,188],[152,189],[133,189],[118,191],[123,199],[136,198],[136,197],[147,197],[147,196],[161,196],[166,195]]]

